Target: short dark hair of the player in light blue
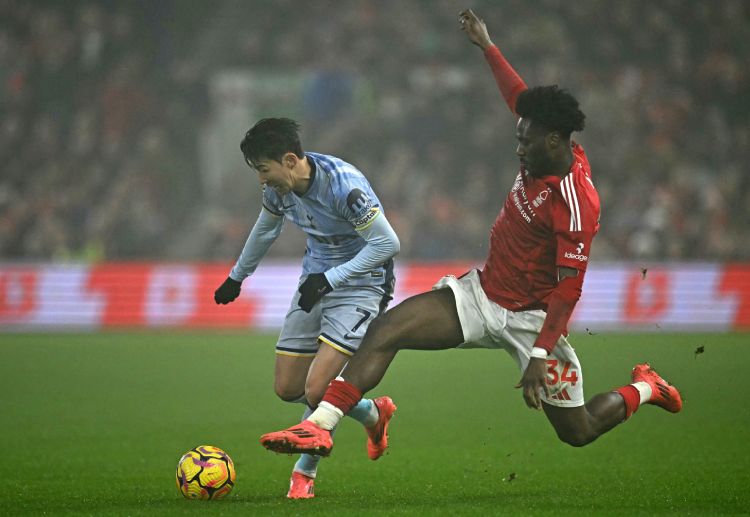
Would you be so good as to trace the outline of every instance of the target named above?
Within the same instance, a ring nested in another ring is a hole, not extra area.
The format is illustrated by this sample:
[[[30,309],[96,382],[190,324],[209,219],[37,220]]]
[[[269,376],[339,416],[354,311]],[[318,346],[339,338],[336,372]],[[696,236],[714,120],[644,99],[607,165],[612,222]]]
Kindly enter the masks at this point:
[[[240,143],[245,161],[253,167],[260,160],[281,161],[286,153],[304,158],[299,124],[289,118],[264,118],[251,127]]]

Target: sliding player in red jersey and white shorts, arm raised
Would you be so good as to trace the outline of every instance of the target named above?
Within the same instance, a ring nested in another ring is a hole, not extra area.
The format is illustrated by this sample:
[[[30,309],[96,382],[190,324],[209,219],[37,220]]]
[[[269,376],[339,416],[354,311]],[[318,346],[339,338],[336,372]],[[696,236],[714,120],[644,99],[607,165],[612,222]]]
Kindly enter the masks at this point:
[[[581,295],[591,242],[599,229],[599,196],[583,148],[571,141],[584,114],[557,86],[528,89],[471,10],[461,28],[487,59],[517,115],[520,170],[490,232],[484,269],[444,277],[431,292],[409,298],[376,319],[365,339],[301,424],[261,437],[277,452],[328,455],[333,429],[362,394],[382,379],[403,349],[502,348],[523,372],[517,387],[541,409],[558,437],[583,446],[625,421],[641,404],[677,413],[682,399],[647,363],[632,383],[583,398],[583,373],[567,341]],[[379,431],[385,434],[387,420]]]

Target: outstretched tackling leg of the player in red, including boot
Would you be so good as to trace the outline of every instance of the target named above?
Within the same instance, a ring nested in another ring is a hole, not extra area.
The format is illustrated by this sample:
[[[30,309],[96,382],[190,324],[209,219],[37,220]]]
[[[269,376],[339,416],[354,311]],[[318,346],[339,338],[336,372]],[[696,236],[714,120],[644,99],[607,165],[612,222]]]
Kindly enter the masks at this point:
[[[331,382],[318,409],[306,422],[268,433],[261,444],[276,452],[310,452],[327,456],[333,429],[385,375],[399,350],[444,350],[464,342],[464,333],[451,289],[419,294],[378,317],[341,378]]]

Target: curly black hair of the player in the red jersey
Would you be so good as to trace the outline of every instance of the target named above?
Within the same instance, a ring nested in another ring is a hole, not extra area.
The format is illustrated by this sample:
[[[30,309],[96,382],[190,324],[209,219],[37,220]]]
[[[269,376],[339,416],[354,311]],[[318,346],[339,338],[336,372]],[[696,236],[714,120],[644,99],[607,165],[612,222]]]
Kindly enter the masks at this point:
[[[521,92],[516,113],[549,131],[559,131],[568,138],[573,131],[583,131],[586,115],[569,92],[552,86],[535,86]]]

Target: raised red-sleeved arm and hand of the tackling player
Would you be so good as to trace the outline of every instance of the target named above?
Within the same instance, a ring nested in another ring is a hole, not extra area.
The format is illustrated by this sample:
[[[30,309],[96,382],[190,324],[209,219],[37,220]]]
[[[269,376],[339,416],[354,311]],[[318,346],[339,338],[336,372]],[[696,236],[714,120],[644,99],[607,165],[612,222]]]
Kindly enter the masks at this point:
[[[487,32],[487,25],[481,18],[474,14],[474,11],[466,9],[461,12],[458,19],[461,22],[461,30],[466,32],[469,41],[484,52],[484,57],[492,69],[492,74],[495,76],[495,82],[497,82],[497,86],[500,88],[500,93],[502,93],[510,111],[517,114],[516,100],[521,92],[528,88],[526,83],[523,82],[521,76],[516,73],[495,44],[492,43],[490,35]]]

